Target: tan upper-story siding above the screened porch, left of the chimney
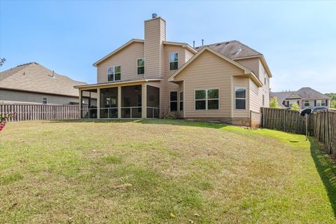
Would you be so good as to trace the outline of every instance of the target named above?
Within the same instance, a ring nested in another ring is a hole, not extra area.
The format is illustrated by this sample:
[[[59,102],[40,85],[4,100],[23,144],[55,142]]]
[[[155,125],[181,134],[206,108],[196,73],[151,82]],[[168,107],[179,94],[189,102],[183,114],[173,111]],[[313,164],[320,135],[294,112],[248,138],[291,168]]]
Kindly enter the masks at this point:
[[[97,83],[107,83],[107,68],[121,66],[121,80],[143,79],[144,74],[137,74],[137,59],[144,58],[144,43],[134,42],[120,52],[105,59],[97,66]],[[146,70],[146,62],[145,62]]]

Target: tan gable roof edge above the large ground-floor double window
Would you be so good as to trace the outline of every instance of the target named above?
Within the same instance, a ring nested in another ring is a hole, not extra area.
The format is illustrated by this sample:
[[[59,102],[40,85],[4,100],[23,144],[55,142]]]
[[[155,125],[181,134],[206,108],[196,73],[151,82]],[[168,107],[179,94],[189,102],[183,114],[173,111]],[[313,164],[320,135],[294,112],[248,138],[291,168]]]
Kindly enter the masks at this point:
[[[179,75],[179,73],[181,73],[181,71],[183,71],[184,69],[186,69],[187,66],[189,66],[189,64],[191,64],[197,57],[199,57],[200,55],[202,55],[203,52],[205,51],[209,51],[212,52],[214,55],[217,55],[218,57],[221,57],[221,59],[224,59],[225,61],[237,66],[239,69],[244,71],[245,75],[248,75],[249,78],[251,78],[256,85],[258,86],[262,86],[262,83],[260,82],[260,80],[255,76],[255,74],[253,73],[253,71],[251,71],[250,69],[246,68],[246,66],[243,66],[242,64],[239,64],[238,62],[233,61],[232,59],[225,57],[224,55],[221,55],[221,53],[217,52],[216,50],[209,48],[209,47],[204,47],[202,48],[202,50],[200,50],[199,52],[197,52],[197,54],[195,54],[193,57],[191,57],[188,62],[184,63],[183,66],[181,66],[181,68],[179,68],[177,71],[175,71],[172,76],[170,76],[168,78],[169,81],[174,81],[174,78]]]

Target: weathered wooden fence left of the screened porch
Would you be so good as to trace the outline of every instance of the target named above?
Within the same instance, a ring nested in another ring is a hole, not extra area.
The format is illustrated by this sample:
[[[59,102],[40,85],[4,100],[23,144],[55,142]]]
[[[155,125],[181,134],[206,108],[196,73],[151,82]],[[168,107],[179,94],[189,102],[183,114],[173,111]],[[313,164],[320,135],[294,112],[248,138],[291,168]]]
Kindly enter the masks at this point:
[[[8,121],[78,119],[76,105],[0,104],[0,114],[15,113]]]

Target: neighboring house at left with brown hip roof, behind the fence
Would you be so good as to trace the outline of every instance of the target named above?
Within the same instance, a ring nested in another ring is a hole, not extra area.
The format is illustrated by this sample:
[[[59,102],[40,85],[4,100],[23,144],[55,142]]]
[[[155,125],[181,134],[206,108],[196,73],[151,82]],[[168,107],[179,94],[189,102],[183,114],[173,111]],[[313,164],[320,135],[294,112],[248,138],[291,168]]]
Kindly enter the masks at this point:
[[[36,62],[21,64],[0,72],[0,103],[78,104],[78,90],[73,86],[83,84]]]

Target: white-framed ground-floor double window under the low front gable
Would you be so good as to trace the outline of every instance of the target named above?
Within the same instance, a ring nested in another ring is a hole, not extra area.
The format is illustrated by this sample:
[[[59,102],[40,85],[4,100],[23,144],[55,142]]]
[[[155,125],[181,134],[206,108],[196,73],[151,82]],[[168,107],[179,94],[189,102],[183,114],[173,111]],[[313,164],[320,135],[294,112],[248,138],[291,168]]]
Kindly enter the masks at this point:
[[[195,110],[218,110],[219,90],[195,90]]]

